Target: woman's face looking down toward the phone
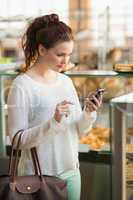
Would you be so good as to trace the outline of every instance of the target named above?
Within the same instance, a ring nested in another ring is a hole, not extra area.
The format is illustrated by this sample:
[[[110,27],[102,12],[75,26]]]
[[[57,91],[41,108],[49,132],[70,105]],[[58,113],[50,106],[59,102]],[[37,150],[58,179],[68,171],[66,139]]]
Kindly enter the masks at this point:
[[[53,48],[45,49],[42,59],[48,68],[61,72],[69,63],[73,51],[73,41],[60,42]]]

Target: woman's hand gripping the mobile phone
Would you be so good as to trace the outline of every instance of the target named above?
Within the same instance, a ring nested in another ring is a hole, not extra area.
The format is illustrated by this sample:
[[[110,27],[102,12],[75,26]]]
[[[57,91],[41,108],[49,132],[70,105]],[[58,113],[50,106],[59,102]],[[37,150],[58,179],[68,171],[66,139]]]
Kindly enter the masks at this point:
[[[99,98],[95,97],[95,93],[91,93],[85,98],[84,109],[86,112],[97,111],[97,109],[102,105],[103,95],[100,94]]]

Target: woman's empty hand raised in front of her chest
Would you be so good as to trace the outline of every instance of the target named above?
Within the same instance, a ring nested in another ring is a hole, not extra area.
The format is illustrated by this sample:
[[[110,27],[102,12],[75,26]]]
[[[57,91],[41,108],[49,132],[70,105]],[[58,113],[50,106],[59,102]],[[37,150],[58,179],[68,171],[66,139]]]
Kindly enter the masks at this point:
[[[61,103],[57,104],[54,118],[57,122],[60,122],[62,117],[65,115],[66,117],[70,114],[69,105],[72,105],[70,101],[62,101]]]

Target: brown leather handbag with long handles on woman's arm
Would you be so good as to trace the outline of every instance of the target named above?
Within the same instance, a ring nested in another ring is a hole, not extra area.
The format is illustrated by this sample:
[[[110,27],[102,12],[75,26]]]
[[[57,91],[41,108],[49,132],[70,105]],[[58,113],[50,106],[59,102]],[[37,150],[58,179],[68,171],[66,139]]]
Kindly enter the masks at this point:
[[[67,200],[66,181],[42,175],[36,148],[31,149],[35,175],[17,176],[22,133],[23,130],[18,131],[13,138],[8,175],[0,176],[0,200]]]

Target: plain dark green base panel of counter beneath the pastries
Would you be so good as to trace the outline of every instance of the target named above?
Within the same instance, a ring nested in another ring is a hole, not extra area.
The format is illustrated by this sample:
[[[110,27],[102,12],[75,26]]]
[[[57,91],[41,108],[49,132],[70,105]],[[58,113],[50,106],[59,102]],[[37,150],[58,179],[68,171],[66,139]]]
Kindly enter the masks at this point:
[[[81,200],[111,199],[111,152],[79,152]]]

